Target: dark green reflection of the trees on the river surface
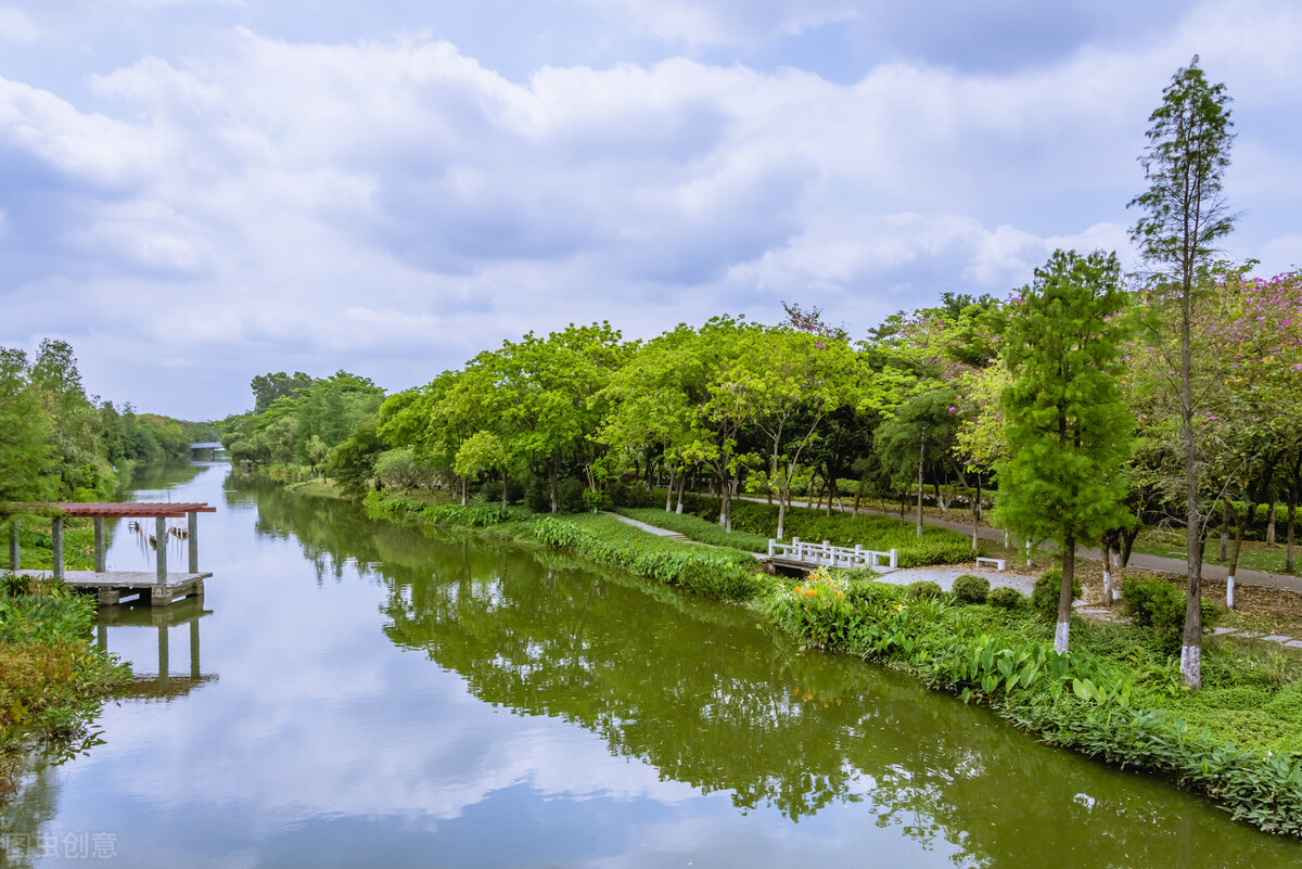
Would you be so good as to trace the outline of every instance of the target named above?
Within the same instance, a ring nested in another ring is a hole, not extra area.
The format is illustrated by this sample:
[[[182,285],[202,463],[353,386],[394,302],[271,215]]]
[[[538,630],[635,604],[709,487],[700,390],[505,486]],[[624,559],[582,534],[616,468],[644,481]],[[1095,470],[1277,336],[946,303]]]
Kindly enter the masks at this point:
[[[263,492],[259,532],[337,571],[375,565],[385,634],[480,700],[600,734],[612,755],[799,821],[862,803],[965,864],[1290,865],[1295,846],[1204,803],[1036,744],[988,712],[854,658],[805,652],[760,618],[555,552],[376,523]],[[1052,856],[1051,856],[1052,855]],[[1251,855],[1251,856],[1249,856]]]

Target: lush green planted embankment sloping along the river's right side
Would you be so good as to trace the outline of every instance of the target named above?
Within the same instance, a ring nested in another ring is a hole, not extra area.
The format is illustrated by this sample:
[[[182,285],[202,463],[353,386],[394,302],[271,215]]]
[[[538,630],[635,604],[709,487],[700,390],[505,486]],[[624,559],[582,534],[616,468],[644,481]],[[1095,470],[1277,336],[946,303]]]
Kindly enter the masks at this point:
[[[810,645],[907,670],[936,689],[991,706],[1047,742],[1170,775],[1219,800],[1236,818],[1271,833],[1302,835],[1302,660],[1282,649],[1208,639],[1204,688],[1189,692],[1180,686],[1178,641],[1148,628],[1075,619],[1072,652],[1059,656],[1052,650],[1052,624],[1025,601],[1012,608],[963,606],[948,596],[917,596],[874,582],[866,571],[820,572],[806,580],[768,576],[755,572],[745,545],[707,549],[674,542],[612,516],[535,516],[495,505],[427,506],[401,496],[371,497],[368,506],[415,524],[479,527],[562,546],[745,602]],[[849,520],[833,516],[832,522],[837,519]],[[707,536],[702,526],[682,518],[658,524],[669,523],[684,533]],[[815,527],[820,533],[810,539],[846,541],[861,531]],[[969,545],[962,536],[953,537],[947,544],[937,536],[924,546],[941,553],[953,546],[957,553]]]

